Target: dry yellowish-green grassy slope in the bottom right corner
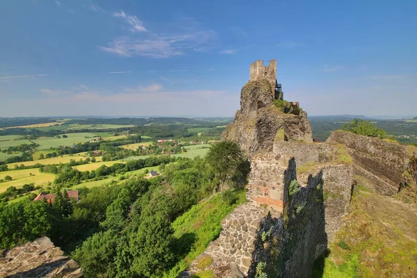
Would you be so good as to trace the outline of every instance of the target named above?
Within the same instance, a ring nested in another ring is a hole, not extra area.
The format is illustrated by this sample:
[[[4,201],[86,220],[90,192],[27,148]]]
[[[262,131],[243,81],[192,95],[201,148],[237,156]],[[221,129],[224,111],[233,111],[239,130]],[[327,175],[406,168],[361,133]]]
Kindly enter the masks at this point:
[[[417,215],[357,186],[350,213],[313,277],[417,277]]]

